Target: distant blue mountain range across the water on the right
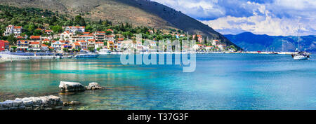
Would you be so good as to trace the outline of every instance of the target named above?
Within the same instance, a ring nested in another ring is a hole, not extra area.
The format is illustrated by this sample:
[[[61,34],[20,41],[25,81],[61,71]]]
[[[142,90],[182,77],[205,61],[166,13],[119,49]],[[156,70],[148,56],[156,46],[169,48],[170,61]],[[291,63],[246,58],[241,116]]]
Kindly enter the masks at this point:
[[[267,48],[269,51],[282,51],[282,41],[284,51],[294,51],[298,48],[298,36],[268,36],[244,32],[237,35],[228,34],[225,37],[237,46],[241,46],[244,50],[249,51],[265,51]],[[315,52],[316,36],[300,36],[300,48],[301,50]]]

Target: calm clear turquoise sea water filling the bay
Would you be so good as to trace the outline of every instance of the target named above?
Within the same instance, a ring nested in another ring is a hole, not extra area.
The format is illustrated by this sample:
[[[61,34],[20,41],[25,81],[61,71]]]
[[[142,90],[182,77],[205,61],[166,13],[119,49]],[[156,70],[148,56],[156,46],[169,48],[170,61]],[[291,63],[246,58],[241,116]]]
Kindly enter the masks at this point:
[[[58,94],[60,81],[109,90]],[[93,60],[0,63],[0,101],[57,95],[79,101],[64,109],[316,109],[316,61],[291,55],[197,55],[197,69],[122,65],[119,55]]]

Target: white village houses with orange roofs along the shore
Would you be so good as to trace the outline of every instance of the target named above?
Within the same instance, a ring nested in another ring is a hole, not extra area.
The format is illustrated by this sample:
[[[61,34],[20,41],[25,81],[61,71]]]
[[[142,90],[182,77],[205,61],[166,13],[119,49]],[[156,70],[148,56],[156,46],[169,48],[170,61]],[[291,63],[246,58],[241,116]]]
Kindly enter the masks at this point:
[[[86,32],[84,26],[67,26],[62,27],[62,33],[53,34],[51,29],[35,29],[37,32],[45,34],[45,36],[27,36],[21,35],[23,28],[21,26],[8,25],[3,36],[13,35],[15,37],[15,45],[10,45],[9,41],[0,41],[0,51],[12,52],[53,52],[53,53],[78,53],[82,50],[96,52],[100,49],[109,49],[112,51],[122,51],[129,47],[129,43],[133,43],[140,51],[152,51],[157,47],[157,40],[147,40],[150,47],[143,46],[143,42],[136,41],[135,36],[125,38],[121,34],[114,34],[113,29],[106,29],[99,32]],[[147,33],[154,34],[154,30],[148,30]],[[157,32],[157,31],[156,31]],[[167,34],[176,39],[187,38],[187,34]],[[195,39],[197,43],[193,46],[196,51],[221,51],[228,50],[223,42],[217,39],[211,40],[209,44],[203,44],[206,39],[202,35],[192,35],[191,39]],[[230,51],[235,51],[230,48]]]

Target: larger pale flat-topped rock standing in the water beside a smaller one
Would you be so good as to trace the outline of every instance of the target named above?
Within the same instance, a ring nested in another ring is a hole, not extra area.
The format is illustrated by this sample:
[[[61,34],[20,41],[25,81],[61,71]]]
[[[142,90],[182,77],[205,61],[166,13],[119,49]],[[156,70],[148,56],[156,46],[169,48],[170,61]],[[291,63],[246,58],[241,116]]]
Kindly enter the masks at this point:
[[[81,83],[65,81],[60,81],[59,88],[60,92],[76,92],[86,90],[84,85],[82,85]]]

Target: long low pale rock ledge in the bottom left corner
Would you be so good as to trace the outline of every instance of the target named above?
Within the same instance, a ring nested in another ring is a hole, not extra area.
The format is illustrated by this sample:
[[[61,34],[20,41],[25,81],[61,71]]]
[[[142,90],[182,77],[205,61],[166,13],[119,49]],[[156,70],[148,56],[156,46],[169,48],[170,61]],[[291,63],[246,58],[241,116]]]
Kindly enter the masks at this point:
[[[25,97],[16,98],[15,100],[6,100],[0,102],[0,110],[49,110],[49,109],[61,109],[62,101],[60,97],[53,95],[44,97]]]

